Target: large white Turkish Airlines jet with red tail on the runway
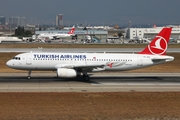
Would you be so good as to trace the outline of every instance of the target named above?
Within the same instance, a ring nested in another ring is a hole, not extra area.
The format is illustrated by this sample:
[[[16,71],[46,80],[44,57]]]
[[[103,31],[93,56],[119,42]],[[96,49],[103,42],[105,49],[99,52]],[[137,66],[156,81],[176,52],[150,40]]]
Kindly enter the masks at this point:
[[[59,78],[82,76],[89,81],[88,72],[124,71],[145,68],[169,61],[174,57],[167,56],[166,50],[172,28],[163,28],[160,33],[138,53],[21,53],[7,61],[13,69],[28,70],[31,78],[33,70],[56,71]]]

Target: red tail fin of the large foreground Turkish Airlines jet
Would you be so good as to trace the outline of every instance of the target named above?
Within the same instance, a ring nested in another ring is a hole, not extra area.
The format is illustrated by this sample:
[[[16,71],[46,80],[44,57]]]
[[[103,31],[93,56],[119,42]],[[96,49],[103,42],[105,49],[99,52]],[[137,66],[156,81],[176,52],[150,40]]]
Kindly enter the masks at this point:
[[[172,28],[163,28],[151,43],[139,54],[165,55]]]

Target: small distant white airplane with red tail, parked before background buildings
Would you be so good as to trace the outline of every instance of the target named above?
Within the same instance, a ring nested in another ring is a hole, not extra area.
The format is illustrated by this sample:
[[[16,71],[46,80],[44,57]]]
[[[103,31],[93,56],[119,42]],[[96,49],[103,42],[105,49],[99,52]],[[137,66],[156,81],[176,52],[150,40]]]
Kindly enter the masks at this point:
[[[57,33],[57,34],[54,34],[54,33],[42,33],[42,34],[39,34],[37,36],[37,38],[41,39],[41,38],[49,38],[49,39],[54,39],[54,38],[65,38],[65,37],[71,37],[71,36],[74,36],[74,30],[75,30],[75,26],[73,26],[71,28],[71,30],[66,34],[61,34],[61,33]]]

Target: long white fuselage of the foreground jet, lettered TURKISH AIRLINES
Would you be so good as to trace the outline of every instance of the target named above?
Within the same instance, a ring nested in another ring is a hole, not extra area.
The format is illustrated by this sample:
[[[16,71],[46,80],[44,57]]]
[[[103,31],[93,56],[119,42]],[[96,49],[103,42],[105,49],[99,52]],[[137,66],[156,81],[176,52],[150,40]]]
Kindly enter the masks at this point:
[[[171,56],[114,53],[22,53],[7,66],[20,70],[82,68],[88,72],[131,70],[174,60]]]

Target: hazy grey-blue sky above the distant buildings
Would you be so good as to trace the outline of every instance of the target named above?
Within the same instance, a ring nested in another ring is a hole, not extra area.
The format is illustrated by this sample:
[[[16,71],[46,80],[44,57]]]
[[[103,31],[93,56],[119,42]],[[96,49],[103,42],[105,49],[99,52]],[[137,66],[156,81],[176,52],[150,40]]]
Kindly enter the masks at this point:
[[[0,0],[0,16],[26,17],[29,23],[180,24],[180,0]]]

